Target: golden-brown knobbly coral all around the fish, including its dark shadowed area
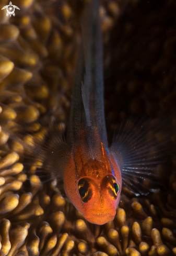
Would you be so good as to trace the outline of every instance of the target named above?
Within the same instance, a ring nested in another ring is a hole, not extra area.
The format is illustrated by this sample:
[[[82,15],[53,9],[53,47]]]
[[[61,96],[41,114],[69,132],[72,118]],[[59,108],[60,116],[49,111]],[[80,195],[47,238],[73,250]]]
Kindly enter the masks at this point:
[[[0,9],[7,4],[2,0]],[[0,124],[17,132],[30,126],[33,133],[21,139],[32,145],[45,132],[41,117],[65,129],[84,4],[15,4],[15,17],[0,10]],[[100,15],[109,140],[130,115],[163,117],[175,128],[174,0],[104,0]],[[175,132],[171,140],[174,149]],[[123,188],[114,220],[98,226],[74,208],[60,181],[42,183],[36,173],[41,163],[3,130],[0,147],[1,256],[176,254],[174,150],[166,166],[156,169],[165,180],[162,189],[136,197]]]

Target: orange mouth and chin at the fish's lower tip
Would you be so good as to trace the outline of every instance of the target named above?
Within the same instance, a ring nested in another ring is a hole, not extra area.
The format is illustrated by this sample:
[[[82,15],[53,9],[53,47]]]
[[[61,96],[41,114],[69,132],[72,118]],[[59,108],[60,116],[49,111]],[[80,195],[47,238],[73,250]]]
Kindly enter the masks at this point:
[[[90,223],[92,224],[97,224],[97,225],[103,225],[107,222],[110,222],[114,219],[116,211],[112,211],[111,209],[111,214],[109,213],[98,213],[96,210],[96,214],[89,214],[89,216],[84,216]]]

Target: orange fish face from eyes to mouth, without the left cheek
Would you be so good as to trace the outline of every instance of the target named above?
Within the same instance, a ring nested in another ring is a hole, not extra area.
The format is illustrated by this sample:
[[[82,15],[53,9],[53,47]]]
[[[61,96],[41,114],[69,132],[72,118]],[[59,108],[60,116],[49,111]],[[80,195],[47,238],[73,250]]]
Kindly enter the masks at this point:
[[[101,179],[81,177],[77,194],[82,202],[81,212],[84,217],[98,225],[113,220],[120,200],[120,191],[120,184],[113,174],[104,175]]]

